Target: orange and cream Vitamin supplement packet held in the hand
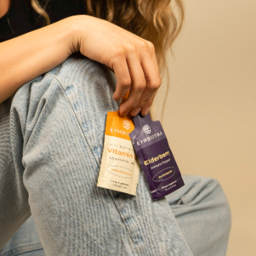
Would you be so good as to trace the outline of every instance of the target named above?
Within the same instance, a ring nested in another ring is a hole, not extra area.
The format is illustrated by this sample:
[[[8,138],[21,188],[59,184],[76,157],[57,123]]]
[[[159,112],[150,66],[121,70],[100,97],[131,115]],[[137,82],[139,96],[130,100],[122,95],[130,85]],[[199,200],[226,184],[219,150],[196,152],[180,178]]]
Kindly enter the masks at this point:
[[[121,117],[118,111],[107,112],[98,187],[135,195],[139,160],[129,137],[134,128],[130,115]]]

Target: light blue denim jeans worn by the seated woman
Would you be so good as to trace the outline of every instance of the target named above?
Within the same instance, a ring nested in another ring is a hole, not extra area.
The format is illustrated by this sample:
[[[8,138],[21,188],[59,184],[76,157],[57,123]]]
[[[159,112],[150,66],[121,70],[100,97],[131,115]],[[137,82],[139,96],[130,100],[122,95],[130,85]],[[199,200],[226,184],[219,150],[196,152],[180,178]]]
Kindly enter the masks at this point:
[[[142,170],[135,196],[96,186],[114,84],[74,55],[0,104],[1,256],[226,254],[230,207],[215,179],[184,175],[156,202]]]

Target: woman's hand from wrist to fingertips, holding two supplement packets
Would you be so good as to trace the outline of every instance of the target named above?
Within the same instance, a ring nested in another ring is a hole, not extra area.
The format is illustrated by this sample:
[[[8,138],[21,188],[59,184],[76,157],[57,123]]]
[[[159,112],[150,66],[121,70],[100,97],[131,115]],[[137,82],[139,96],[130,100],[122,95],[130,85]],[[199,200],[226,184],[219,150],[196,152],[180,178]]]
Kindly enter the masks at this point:
[[[154,46],[103,19],[92,16],[73,16],[75,37],[72,51],[80,51],[88,58],[114,70],[117,88],[113,99],[120,100],[130,91],[128,100],[120,107],[120,114],[146,115],[161,85]]]

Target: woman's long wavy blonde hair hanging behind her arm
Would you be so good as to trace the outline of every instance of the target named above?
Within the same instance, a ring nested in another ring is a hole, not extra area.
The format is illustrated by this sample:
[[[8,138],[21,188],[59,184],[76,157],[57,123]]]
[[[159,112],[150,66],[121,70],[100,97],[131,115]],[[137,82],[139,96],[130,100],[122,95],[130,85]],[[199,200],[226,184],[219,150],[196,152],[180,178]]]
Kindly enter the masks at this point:
[[[46,25],[50,24],[50,18],[45,12],[49,1],[46,0],[44,6],[41,6],[38,0],[30,0],[33,9],[44,17]],[[155,46],[156,58],[160,72],[163,75],[163,72],[167,70],[167,50],[170,50],[184,20],[182,0],[84,1],[86,2],[87,15],[106,19],[110,23],[121,26],[139,37],[151,41]],[[167,76],[169,83],[168,71]],[[167,84],[167,94],[168,89]]]

